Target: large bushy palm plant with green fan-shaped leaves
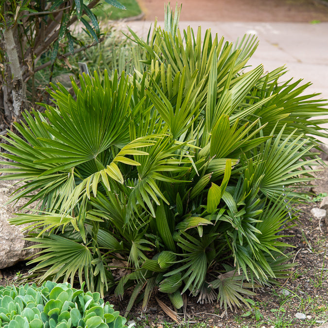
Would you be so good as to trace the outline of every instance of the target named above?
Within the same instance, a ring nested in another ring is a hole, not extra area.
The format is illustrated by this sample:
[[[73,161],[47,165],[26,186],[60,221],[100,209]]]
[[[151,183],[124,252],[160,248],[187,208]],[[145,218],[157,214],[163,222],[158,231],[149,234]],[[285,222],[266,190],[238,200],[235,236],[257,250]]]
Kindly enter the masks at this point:
[[[12,168],[0,178],[25,182],[12,201],[39,201],[11,219],[30,223],[40,249],[32,276],[78,276],[120,296],[135,285],[127,311],[143,289],[145,308],[156,286],[176,308],[188,291],[240,306],[286,275],[281,231],[326,136],[325,120],[308,121],[326,103],[300,95],[307,85],[279,84],[283,69],[243,71],[255,39],[181,34],[176,13],[147,41],[132,33],[145,56],[133,76],[84,74],[74,97],[52,85],[54,105],[3,137]],[[119,279],[116,259],[126,263]]]

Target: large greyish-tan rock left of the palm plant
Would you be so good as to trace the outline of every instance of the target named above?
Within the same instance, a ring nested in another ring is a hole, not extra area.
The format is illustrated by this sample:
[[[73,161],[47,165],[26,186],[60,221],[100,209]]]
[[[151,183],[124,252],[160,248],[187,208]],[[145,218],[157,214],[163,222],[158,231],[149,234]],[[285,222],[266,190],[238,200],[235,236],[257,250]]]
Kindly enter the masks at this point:
[[[0,181],[0,269],[12,266],[17,262],[35,255],[38,249],[24,249],[31,246],[31,242],[24,241],[22,229],[27,225],[11,225],[8,219],[18,212],[24,204],[24,200],[19,200],[17,204],[5,205],[11,193],[17,188],[12,187],[11,181]],[[26,201],[25,201],[26,202]]]

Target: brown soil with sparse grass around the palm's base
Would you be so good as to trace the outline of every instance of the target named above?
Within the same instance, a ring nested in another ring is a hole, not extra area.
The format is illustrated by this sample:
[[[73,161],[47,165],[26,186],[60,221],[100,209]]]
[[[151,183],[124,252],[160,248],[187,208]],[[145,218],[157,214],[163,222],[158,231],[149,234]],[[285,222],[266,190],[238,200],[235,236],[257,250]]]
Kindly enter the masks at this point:
[[[310,212],[311,208],[318,206],[318,203],[309,203],[298,207],[299,223],[297,226],[287,228],[284,233],[292,237],[283,239],[284,242],[295,246],[287,250],[293,251],[293,258],[290,261],[294,262],[295,267],[287,279],[278,280],[278,285],[258,290],[257,295],[251,297],[256,303],[251,312],[245,307],[236,311],[228,309],[227,313],[224,313],[219,304],[199,304],[197,297],[190,296],[186,300],[186,311],[178,314],[181,321],[185,324],[189,323],[189,327],[210,328],[310,328],[327,322],[328,232],[325,220],[314,219]],[[1,269],[0,285],[17,284],[19,278],[24,277],[27,271],[28,267],[24,262]],[[105,300],[114,304],[115,309],[124,314],[131,293],[132,291],[127,291],[123,300],[115,296],[107,296]],[[286,296],[284,293],[289,295]],[[173,310],[165,294],[154,291],[148,309],[142,313],[142,302],[136,304],[128,320],[134,320],[143,328],[167,327],[170,322],[172,326],[177,326],[172,317],[170,318],[162,310],[156,298]],[[308,316],[307,319],[296,319],[296,312],[304,313]],[[256,314],[260,315],[259,321],[256,320]],[[173,310],[173,317],[174,315]]]

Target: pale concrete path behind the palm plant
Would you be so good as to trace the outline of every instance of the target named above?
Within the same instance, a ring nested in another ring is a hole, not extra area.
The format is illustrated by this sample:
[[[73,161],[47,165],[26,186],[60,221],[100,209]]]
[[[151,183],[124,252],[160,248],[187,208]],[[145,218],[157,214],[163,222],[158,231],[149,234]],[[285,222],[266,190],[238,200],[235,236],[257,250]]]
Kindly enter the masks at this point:
[[[150,21],[128,23],[139,35],[147,35]],[[163,23],[159,22],[163,26]],[[259,47],[249,61],[264,70],[273,70],[286,65],[289,70],[284,80],[294,77],[312,82],[308,93],[321,93],[319,98],[328,99],[328,22],[310,23],[254,23],[254,22],[208,22],[180,21],[180,28],[190,25],[194,31],[202,26],[202,31],[210,28],[212,33],[224,35],[228,41],[236,41],[246,33],[256,34]],[[327,107],[328,108],[328,107]],[[328,118],[328,109],[327,109]],[[325,124],[328,128],[328,123]],[[328,145],[328,139],[322,140]]]

